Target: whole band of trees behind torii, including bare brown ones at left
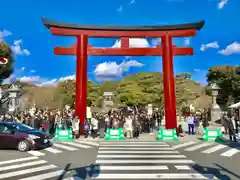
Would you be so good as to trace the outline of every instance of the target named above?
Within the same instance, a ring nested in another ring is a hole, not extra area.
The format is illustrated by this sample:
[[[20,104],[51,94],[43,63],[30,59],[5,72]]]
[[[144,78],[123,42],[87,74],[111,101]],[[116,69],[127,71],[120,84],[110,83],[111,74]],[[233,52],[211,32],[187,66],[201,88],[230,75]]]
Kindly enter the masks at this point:
[[[178,112],[187,104],[196,108],[206,108],[209,96],[205,94],[205,87],[191,79],[175,78],[176,103]],[[29,106],[33,103],[37,107],[56,109],[66,104],[74,106],[76,83],[74,80],[60,82],[57,86],[38,87],[23,84],[24,96]],[[151,103],[157,107],[164,106],[163,76],[159,72],[140,72],[124,77],[119,82],[105,81],[97,84],[91,80],[87,86],[88,106],[101,107],[103,93],[113,92],[114,107],[145,106]],[[204,103],[203,103],[204,102]],[[197,104],[197,105],[195,105]]]

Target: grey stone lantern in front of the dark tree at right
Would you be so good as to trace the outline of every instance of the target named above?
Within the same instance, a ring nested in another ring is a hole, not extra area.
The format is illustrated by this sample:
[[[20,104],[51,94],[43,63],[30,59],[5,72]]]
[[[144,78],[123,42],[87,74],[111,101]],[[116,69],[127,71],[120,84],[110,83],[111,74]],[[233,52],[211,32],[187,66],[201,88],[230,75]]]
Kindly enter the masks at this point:
[[[218,96],[219,90],[220,90],[220,87],[216,83],[213,83],[211,85],[211,92],[212,92],[211,124],[221,119],[221,108],[217,104],[217,96]]]

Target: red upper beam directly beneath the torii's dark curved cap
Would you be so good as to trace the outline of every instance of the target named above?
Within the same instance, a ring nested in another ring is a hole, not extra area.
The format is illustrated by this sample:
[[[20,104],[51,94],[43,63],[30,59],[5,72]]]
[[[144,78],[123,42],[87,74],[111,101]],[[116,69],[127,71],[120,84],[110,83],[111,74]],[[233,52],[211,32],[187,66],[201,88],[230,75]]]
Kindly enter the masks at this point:
[[[184,30],[166,30],[166,31],[102,31],[102,30],[82,30],[82,29],[66,29],[59,27],[50,28],[53,35],[56,36],[79,36],[80,34],[87,35],[89,37],[109,37],[109,38],[119,38],[119,37],[131,37],[131,38],[142,38],[142,37],[162,37],[162,36],[172,36],[172,37],[188,37],[195,36],[195,29],[184,29]]]

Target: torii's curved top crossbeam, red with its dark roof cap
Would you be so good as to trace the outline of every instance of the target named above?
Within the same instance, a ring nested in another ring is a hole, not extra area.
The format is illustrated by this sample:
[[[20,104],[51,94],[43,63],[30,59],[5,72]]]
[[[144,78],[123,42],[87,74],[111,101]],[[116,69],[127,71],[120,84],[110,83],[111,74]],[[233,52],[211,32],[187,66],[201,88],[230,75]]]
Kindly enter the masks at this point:
[[[56,36],[78,36],[79,34],[89,37],[172,37],[194,36],[197,30],[204,26],[204,21],[163,26],[109,26],[109,25],[80,25],[65,22],[57,22],[42,18],[43,24],[50,28]],[[64,29],[64,31],[63,31]]]

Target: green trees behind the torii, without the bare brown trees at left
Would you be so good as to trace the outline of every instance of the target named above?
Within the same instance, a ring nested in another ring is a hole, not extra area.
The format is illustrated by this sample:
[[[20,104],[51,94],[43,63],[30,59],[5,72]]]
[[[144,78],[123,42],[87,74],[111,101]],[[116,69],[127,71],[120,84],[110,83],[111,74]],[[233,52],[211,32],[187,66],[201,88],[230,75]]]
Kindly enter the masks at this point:
[[[181,108],[187,103],[201,96],[201,87],[196,82],[182,76],[176,77],[177,107]],[[74,104],[75,81],[64,81],[58,85],[58,92],[63,99],[63,104]],[[164,106],[163,77],[158,72],[140,72],[135,75],[126,76],[119,82],[105,81],[96,84],[88,81],[88,103],[100,107],[104,92],[115,94],[115,106],[143,106],[149,103],[158,107]]]

